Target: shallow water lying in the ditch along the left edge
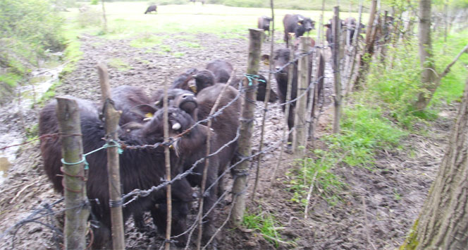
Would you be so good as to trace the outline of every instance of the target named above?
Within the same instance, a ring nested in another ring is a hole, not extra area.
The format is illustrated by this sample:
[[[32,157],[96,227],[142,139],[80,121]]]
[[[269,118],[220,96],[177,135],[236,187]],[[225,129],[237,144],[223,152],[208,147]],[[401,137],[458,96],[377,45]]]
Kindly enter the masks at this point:
[[[18,97],[12,100],[9,104],[1,107],[3,112],[8,114],[19,115],[20,112],[25,115],[31,109],[32,105],[49,90],[51,85],[58,81],[58,75],[63,70],[63,65],[54,69],[37,69],[30,74],[29,83],[19,86],[16,93],[21,93],[20,102]],[[23,133],[20,131],[1,131],[0,133],[0,148],[8,147],[22,143],[25,140]],[[16,152],[19,146],[0,150],[0,184],[3,183],[11,163],[16,159]]]

